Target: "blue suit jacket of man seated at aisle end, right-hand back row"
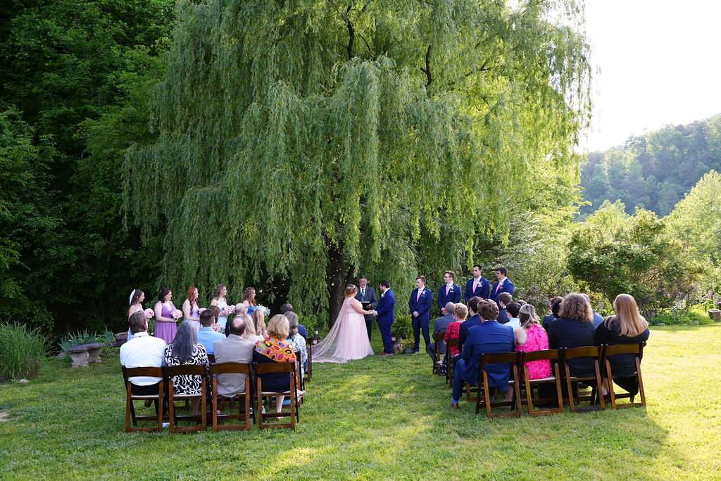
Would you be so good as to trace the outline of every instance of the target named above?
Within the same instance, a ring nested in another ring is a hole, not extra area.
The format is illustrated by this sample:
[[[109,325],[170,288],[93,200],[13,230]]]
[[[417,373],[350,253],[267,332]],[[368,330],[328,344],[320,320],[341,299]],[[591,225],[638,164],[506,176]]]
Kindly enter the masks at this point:
[[[461,323],[461,326],[465,322]],[[498,324],[495,320],[483,322],[471,328],[468,339],[461,352],[463,362],[456,364],[456,371],[469,384],[475,385],[478,381],[478,369],[481,354],[512,353],[513,327]],[[486,366],[488,384],[491,387],[505,391],[508,389],[510,364],[500,363]]]

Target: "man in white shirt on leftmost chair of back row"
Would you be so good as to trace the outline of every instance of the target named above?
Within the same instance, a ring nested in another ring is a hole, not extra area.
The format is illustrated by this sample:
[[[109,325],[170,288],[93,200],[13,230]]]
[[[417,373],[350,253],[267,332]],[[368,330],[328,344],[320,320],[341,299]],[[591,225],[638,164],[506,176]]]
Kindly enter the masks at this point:
[[[163,365],[165,341],[148,334],[148,319],[141,311],[134,312],[128,319],[133,339],[120,346],[120,366],[126,368],[159,368]],[[161,377],[133,376],[131,393],[138,396],[158,394]],[[155,411],[158,411],[157,401]],[[146,402],[146,406],[150,403]]]

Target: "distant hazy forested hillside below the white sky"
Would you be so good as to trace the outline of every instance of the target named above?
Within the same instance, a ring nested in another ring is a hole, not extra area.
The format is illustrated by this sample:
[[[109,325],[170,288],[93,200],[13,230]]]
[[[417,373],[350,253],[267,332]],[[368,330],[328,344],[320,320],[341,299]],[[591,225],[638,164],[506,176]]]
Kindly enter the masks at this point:
[[[666,216],[710,170],[721,170],[721,115],[689,125],[666,125],[624,146],[588,154],[581,172],[583,197],[596,211],[603,200],[622,200],[627,213],[636,206]]]

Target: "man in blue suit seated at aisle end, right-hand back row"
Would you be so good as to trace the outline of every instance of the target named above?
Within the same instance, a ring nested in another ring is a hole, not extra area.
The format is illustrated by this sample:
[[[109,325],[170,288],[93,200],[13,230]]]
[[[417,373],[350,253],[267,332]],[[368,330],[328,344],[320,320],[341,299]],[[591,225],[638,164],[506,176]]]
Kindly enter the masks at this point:
[[[458,409],[458,401],[467,382],[475,386],[478,381],[481,354],[513,352],[513,328],[498,324],[495,317],[498,307],[490,301],[481,301],[479,304],[481,324],[469,331],[468,339],[463,346],[461,358],[456,363],[453,379],[453,394],[451,394],[451,407]],[[461,324],[462,325],[462,324]],[[488,374],[489,387],[499,391],[508,391],[508,377],[510,364],[500,363],[485,367]]]

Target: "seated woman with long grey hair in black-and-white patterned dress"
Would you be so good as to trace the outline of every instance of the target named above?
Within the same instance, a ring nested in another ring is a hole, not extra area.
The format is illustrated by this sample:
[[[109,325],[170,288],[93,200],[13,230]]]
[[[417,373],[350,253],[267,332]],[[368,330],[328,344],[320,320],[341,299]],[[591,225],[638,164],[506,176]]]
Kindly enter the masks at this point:
[[[203,311],[203,314],[206,311]],[[203,314],[200,314],[200,322],[203,322]],[[200,330],[203,330],[202,328]],[[200,331],[198,331],[200,332]],[[208,354],[205,348],[198,343],[198,332],[195,331],[193,321],[183,321],[177,329],[173,342],[165,346],[164,361],[166,366],[205,366],[208,372]],[[221,336],[221,339],[224,339]],[[200,394],[202,392],[200,376],[183,374],[173,376],[174,394]],[[200,399],[193,399],[193,415],[198,415]]]

